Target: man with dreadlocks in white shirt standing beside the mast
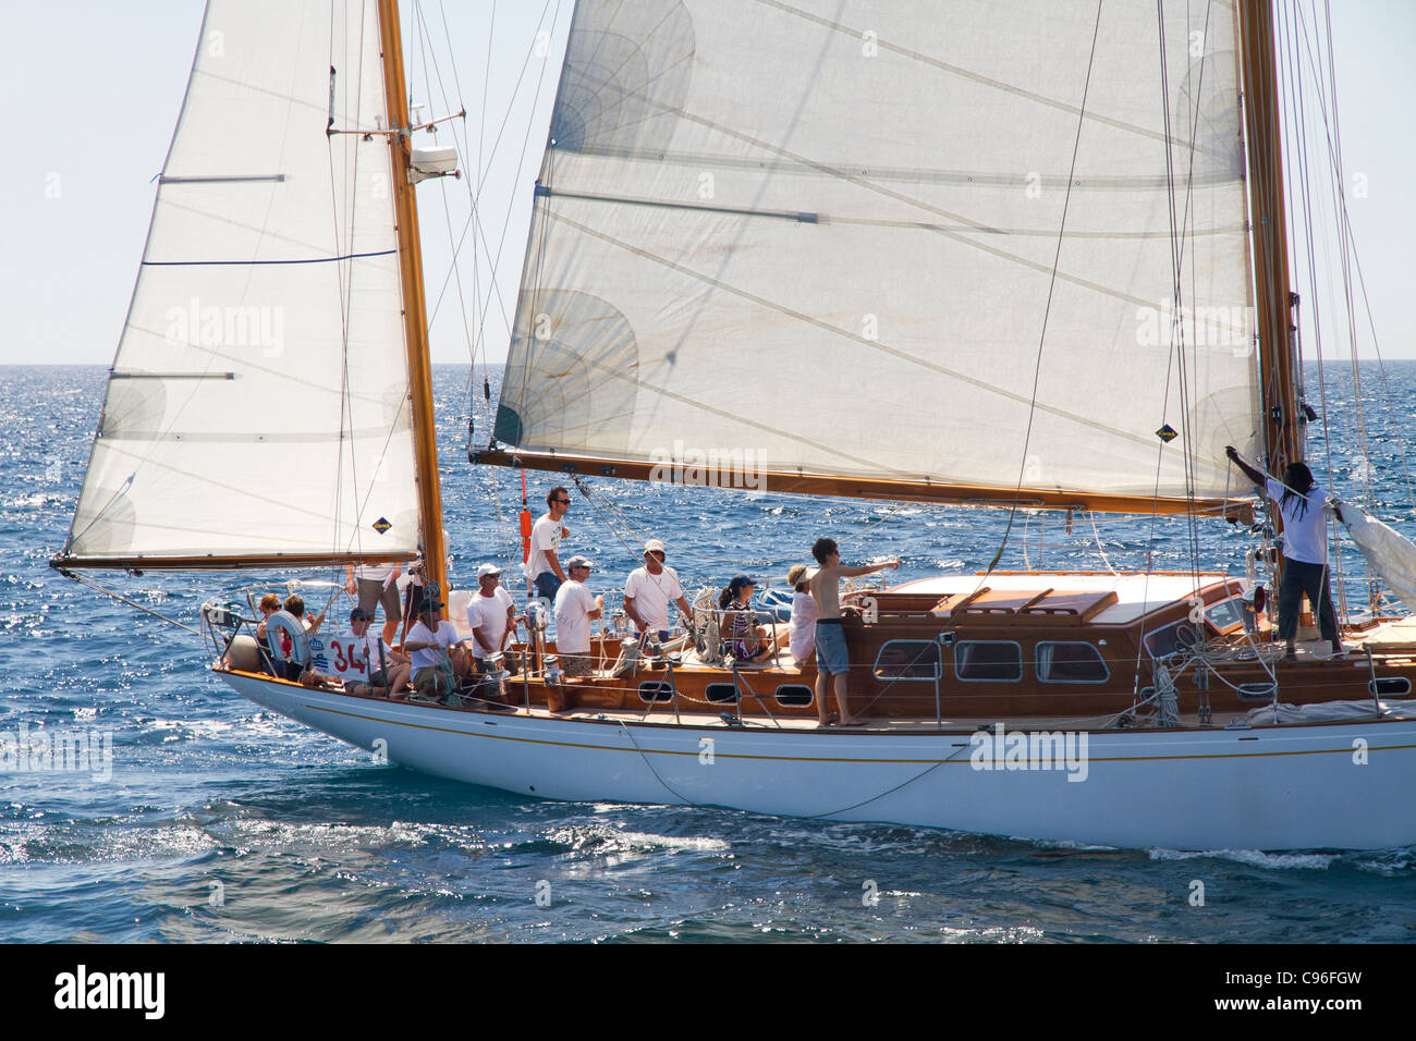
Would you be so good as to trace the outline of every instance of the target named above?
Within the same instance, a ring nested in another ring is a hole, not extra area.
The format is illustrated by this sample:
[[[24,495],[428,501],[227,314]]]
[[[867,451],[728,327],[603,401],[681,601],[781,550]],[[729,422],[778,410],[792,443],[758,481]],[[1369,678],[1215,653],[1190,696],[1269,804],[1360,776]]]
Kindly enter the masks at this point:
[[[1239,457],[1233,445],[1225,446],[1225,455],[1255,484],[1263,486],[1283,516],[1283,582],[1279,585],[1279,639],[1286,640],[1287,660],[1297,657],[1294,637],[1298,630],[1298,605],[1307,593],[1313,613],[1318,616],[1318,630],[1323,639],[1331,642],[1332,656],[1342,656],[1342,642],[1337,635],[1337,615],[1332,610],[1332,593],[1328,589],[1327,525],[1323,506],[1327,503],[1327,489],[1313,480],[1313,472],[1303,463],[1289,463],[1283,480],[1274,480],[1262,470],[1249,466]],[[1342,510],[1334,506],[1337,518]]]

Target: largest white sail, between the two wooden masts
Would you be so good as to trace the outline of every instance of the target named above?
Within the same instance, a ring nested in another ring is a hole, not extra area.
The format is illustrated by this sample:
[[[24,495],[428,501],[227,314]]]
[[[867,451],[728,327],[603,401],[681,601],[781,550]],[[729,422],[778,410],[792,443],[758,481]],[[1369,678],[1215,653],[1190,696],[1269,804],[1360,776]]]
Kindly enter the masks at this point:
[[[496,436],[1236,494],[1236,50],[1232,1],[582,0]]]

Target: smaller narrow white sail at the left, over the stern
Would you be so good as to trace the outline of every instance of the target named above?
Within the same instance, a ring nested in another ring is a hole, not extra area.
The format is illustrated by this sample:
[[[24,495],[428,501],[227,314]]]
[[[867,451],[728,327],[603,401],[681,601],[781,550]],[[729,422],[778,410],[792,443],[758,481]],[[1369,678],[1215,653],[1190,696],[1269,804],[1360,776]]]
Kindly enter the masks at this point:
[[[67,558],[413,551],[388,137],[331,101],[387,127],[372,0],[211,0]]]

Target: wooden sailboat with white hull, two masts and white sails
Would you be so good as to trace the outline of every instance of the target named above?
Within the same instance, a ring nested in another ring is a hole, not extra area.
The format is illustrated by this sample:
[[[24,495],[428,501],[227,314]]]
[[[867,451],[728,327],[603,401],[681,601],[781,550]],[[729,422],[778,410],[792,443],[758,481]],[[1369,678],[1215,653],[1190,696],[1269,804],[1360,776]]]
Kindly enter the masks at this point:
[[[396,3],[210,0],[215,25],[54,565],[324,568],[422,541],[447,589],[415,184],[452,160],[413,144],[432,123]],[[817,728],[814,666],[725,653],[712,603],[677,650],[602,632],[576,680],[532,623],[497,698],[413,704],[276,678],[253,619],[210,602],[212,671],[391,762],[544,799],[1416,843],[1391,799],[1416,782],[1416,637],[1374,618],[1344,630],[1352,659],[1280,661],[1255,595],[1272,530],[1223,455],[1281,472],[1308,422],[1277,89],[1266,0],[581,0],[474,457],[578,489],[1235,523],[1257,578],[857,588],[855,727]],[[283,346],[229,343],[252,306]]]

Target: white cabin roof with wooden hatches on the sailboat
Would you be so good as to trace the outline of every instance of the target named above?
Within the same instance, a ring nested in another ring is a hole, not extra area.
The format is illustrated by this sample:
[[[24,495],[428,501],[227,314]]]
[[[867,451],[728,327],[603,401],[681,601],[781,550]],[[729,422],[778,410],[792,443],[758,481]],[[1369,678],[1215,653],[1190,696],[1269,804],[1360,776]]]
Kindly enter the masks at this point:
[[[1116,593],[1116,602],[1087,618],[1090,625],[1127,625],[1136,619],[1160,610],[1171,603],[1187,601],[1197,589],[1209,589],[1223,582],[1228,575],[1199,572],[1199,575],[1109,575],[1087,572],[1028,572],[991,575],[939,575],[919,578],[891,586],[892,593],[927,593],[932,596],[969,595],[987,588],[987,602],[997,606],[1022,605],[1042,596],[1048,589],[1055,592],[1039,601],[1048,606],[1061,605],[1061,599],[1079,601],[1070,606],[1082,608],[1082,601],[1096,602],[1107,593]],[[984,598],[974,601],[981,603]]]

